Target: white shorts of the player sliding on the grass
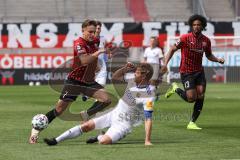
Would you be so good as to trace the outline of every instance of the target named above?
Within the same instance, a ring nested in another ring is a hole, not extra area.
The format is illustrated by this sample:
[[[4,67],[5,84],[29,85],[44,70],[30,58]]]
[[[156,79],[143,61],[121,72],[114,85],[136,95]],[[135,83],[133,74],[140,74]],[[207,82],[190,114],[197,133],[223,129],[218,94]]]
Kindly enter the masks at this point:
[[[131,131],[129,125],[125,125],[123,122],[116,119],[116,115],[113,111],[93,119],[95,123],[95,129],[104,129],[110,127],[105,133],[112,139],[112,143],[124,138]]]

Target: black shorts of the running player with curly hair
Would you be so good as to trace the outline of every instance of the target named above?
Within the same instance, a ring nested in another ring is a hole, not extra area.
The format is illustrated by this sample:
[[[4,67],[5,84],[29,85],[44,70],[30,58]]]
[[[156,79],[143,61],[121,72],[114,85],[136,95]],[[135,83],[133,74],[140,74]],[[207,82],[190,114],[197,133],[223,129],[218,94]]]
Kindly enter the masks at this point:
[[[181,73],[181,80],[185,90],[195,89],[198,85],[206,86],[204,71],[194,73]]]

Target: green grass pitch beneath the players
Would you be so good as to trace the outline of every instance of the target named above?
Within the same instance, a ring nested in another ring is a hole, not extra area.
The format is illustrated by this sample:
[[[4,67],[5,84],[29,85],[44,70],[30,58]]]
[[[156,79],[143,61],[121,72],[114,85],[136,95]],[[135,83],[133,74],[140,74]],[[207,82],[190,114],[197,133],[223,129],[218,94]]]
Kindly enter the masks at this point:
[[[44,137],[78,124],[59,118],[41,133],[38,144],[28,144],[32,117],[49,111],[58,96],[48,86],[0,86],[0,160],[240,159],[240,84],[208,84],[198,119],[201,131],[186,129],[193,104],[177,95],[168,100],[161,97],[155,105],[151,147],[144,146],[143,125],[114,145],[85,144],[87,137],[96,134],[92,132],[49,147]],[[90,104],[78,98],[71,110],[78,112]]]

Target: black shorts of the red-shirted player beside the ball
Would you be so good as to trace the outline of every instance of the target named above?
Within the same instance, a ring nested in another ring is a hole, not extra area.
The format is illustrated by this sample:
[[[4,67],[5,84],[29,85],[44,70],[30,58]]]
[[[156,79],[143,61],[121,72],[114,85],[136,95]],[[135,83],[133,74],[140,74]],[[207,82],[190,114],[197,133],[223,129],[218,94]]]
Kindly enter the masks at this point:
[[[103,86],[97,82],[84,83],[67,79],[64,81],[60,99],[63,101],[75,101],[80,94],[91,97],[94,92],[102,88]]]

